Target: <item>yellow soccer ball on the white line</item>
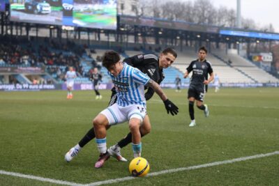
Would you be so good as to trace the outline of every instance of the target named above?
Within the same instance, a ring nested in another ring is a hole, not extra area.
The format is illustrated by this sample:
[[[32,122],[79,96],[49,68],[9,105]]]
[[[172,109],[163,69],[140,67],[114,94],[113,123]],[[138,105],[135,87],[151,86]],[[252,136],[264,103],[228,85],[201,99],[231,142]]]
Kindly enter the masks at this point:
[[[144,177],[149,173],[150,165],[143,157],[135,157],[129,165],[129,171],[132,176]]]

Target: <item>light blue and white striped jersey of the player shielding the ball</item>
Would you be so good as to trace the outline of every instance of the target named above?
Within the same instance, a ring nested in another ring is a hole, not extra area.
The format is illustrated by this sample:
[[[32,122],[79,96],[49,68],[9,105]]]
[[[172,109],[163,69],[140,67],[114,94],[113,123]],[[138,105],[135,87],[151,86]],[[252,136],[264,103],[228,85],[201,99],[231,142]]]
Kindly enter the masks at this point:
[[[117,104],[126,107],[130,104],[141,104],[146,107],[144,85],[149,77],[137,68],[123,63],[123,69],[117,77],[108,72],[116,88]]]

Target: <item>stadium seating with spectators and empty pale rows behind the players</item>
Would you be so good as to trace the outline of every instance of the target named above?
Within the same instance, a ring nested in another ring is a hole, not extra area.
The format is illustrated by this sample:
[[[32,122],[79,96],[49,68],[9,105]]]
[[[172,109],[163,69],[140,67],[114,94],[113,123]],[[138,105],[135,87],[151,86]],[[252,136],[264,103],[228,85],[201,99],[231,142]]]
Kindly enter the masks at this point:
[[[71,47],[68,47],[71,46]],[[156,47],[154,47],[156,48]],[[142,47],[129,48],[123,51],[121,47],[115,47],[121,53],[121,58],[134,56],[141,53],[158,54],[157,51],[151,50],[151,47],[143,49]],[[0,66],[43,66],[45,73],[40,75],[40,78],[45,79],[45,82],[61,84],[64,82],[64,74],[68,66],[73,65],[77,70],[76,83],[90,84],[89,75],[91,69],[99,68],[103,74],[103,83],[110,83],[110,77],[107,75],[107,70],[101,65],[101,56],[107,51],[105,46],[87,46],[77,45],[74,42],[59,43],[56,40],[45,40],[36,44],[32,41],[21,42],[14,45],[0,45]],[[176,50],[178,57],[174,64],[168,69],[165,69],[165,79],[163,83],[172,84],[177,75],[181,77],[182,84],[189,82],[189,79],[183,79],[183,73],[191,61],[197,59],[197,52],[193,47],[183,47],[183,52]],[[8,55],[7,55],[8,54]],[[266,83],[279,82],[276,77],[273,77],[268,72],[258,68],[255,64],[237,54],[226,54],[223,49],[213,49],[206,59],[213,65],[214,72],[218,73],[222,83]],[[30,83],[32,78],[15,75],[17,82]],[[24,80],[25,79],[25,80]],[[3,84],[4,80],[1,77]]]

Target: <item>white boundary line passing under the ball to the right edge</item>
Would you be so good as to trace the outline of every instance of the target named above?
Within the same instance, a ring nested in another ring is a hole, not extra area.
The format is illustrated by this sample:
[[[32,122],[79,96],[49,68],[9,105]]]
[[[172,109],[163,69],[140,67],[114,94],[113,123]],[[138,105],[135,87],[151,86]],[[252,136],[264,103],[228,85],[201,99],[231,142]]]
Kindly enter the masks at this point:
[[[257,158],[261,158],[261,157],[268,157],[268,156],[271,156],[271,155],[279,155],[279,151],[275,151],[273,153],[252,155],[252,156],[248,156],[248,157],[239,157],[239,158],[235,158],[235,159],[232,159],[232,160],[225,160],[225,161],[220,161],[220,162],[212,162],[212,163],[209,163],[209,164],[200,164],[200,165],[195,165],[195,166],[188,166],[188,167],[181,167],[181,168],[177,168],[177,169],[169,169],[169,170],[165,170],[165,171],[158,171],[158,172],[154,172],[154,173],[149,173],[146,177],[158,176],[158,175],[162,175],[162,174],[165,174],[165,173],[175,173],[175,172],[179,172],[179,171],[189,171],[189,170],[194,170],[194,169],[206,168],[206,167],[209,167],[209,166],[218,166],[218,165],[221,165],[221,164],[232,164],[234,162],[242,162],[242,161],[257,159]],[[116,178],[116,179],[113,179],[113,180],[105,180],[105,181],[100,181],[100,182],[95,182],[95,183],[89,183],[86,186],[119,183],[119,182],[123,182],[123,181],[126,181],[126,180],[132,180],[132,179],[135,179],[135,178],[129,176],[129,177],[125,177],[125,178]]]

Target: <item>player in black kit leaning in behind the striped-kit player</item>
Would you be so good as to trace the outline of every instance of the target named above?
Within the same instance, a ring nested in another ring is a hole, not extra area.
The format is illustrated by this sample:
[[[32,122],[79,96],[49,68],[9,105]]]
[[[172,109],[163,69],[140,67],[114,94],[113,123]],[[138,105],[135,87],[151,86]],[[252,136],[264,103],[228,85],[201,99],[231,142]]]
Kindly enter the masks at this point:
[[[165,78],[163,69],[169,68],[169,66],[172,65],[172,63],[174,63],[176,57],[177,57],[177,54],[176,54],[175,50],[168,47],[168,48],[164,49],[163,52],[161,52],[159,56],[156,56],[154,54],[138,54],[138,55],[123,59],[123,62],[127,63],[128,65],[132,65],[135,68],[138,68],[140,71],[144,72],[151,79],[153,79],[153,81],[160,84],[160,82],[162,82],[163,79]],[[147,88],[147,91],[146,91],[144,97],[146,100],[149,100],[153,96],[154,90],[151,87],[145,86],[145,88]],[[114,104],[116,102],[116,100],[117,100],[116,90],[115,90],[115,88],[112,88],[112,96],[111,96],[109,106]],[[171,114],[174,115],[177,113],[171,111]],[[141,128],[141,130],[140,130],[141,137],[144,137],[144,135],[149,134],[149,132],[151,130],[151,123],[149,121],[149,116],[146,116],[144,118],[143,123],[144,123],[145,127]],[[86,132],[84,137],[82,137],[82,139],[80,140],[80,142],[77,145],[75,145],[73,148],[70,148],[68,153],[66,153],[66,155],[65,155],[65,160],[67,162],[70,162],[71,160],[73,160],[73,157],[75,157],[80,152],[80,150],[82,150],[82,148],[84,146],[86,146],[86,144],[88,144],[89,141],[91,141],[95,137],[96,137],[96,135],[95,135],[94,129],[91,128],[88,132]],[[121,148],[127,146],[131,142],[132,142],[132,133],[129,132],[126,135],[126,137],[121,139],[114,146],[111,146],[107,150],[107,153],[110,153],[110,155],[112,157],[115,157],[117,160],[119,160],[121,162],[127,162],[126,158],[121,155]]]

